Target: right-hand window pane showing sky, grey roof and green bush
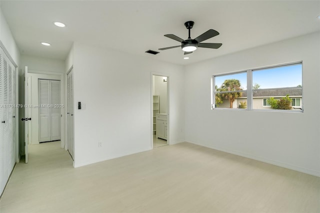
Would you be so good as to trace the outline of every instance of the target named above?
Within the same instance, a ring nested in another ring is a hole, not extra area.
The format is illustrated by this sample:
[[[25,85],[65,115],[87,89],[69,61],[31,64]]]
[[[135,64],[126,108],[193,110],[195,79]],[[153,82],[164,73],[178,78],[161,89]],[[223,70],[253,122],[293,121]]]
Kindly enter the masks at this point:
[[[252,70],[252,84],[253,109],[292,109],[302,98],[302,64]],[[264,98],[270,99],[269,104],[265,105]]]

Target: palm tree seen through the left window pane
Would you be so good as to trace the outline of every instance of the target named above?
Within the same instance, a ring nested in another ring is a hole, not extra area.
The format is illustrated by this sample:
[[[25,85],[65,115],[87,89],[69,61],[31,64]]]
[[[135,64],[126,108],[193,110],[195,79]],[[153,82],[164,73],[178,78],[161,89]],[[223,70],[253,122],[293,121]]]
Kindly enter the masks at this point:
[[[229,99],[230,108],[233,108],[233,102],[235,98],[241,97],[242,92],[239,92],[239,90],[242,90],[241,83],[238,79],[226,79],[222,83],[220,91],[234,91],[234,92],[225,92],[221,93],[221,96],[224,98]]]

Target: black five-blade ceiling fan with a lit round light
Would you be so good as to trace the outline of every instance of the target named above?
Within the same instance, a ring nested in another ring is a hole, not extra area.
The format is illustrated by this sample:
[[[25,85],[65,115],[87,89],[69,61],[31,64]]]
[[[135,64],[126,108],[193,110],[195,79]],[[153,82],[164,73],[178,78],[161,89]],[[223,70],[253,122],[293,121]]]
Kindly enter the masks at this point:
[[[171,48],[175,48],[175,47],[180,46],[182,48],[182,50],[184,51],[184,54],[189,54],[189,53],[192,53],[192,51],[194,51],[197,47],[217,49],[222,45],[222,43],[200,43],[203,40],[206,40],[206,39],[209,39],[211,37],[218,35],[219,32],[215,31],[214,29],[209,29],[206,32],[197,36],[196,38],[191,39],[190,29],[193,27],[193,25],[194,25],[194,21],[191,21],[191,20],[186,21],[184,23],[184,26],[189,30],[189,36],[188,36],[188,39],[186,39],[186,40],[183,40],[182,38],[179,38],[178,36],[176,36],[174,34],[165,34],[164,35],[165,37],[179,41],[179,42],[181,42],[181,45],[159,48],[159,50],[171,49]]]

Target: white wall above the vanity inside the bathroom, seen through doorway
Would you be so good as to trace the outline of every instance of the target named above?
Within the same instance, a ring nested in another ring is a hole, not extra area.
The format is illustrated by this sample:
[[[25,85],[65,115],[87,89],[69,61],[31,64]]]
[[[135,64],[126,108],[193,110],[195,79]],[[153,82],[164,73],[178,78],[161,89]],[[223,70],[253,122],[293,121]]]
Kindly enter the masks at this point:
[[[163,82],[163,76],[154,75],[154,91],[156,95],[159,95],[159,113],[166,113],[167,82]]]

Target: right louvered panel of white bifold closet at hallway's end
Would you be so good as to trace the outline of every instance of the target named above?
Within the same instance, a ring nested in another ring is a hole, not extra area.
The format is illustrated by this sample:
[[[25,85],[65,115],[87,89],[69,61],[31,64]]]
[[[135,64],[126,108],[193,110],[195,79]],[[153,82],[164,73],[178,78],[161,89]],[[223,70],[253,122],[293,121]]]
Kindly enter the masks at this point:
[[[51,113],[50,113],[50,126],[51,126],[51,139],[59,140],[60,136],[60,81],[50,80],[50,98],[51,98]]]

